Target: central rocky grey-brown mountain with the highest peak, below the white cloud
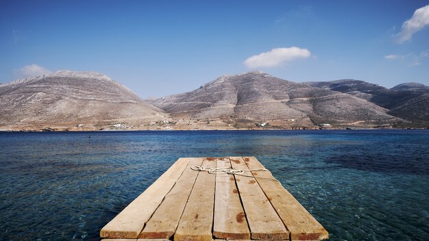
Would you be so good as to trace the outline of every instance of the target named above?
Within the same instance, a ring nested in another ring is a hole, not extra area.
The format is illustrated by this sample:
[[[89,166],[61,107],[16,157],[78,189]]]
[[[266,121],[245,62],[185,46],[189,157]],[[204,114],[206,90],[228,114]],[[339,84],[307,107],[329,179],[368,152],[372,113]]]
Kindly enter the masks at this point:
[[[172,118],[219,118],[235,127],[387,125],[400,119],[352,94],[299,84],[262,72],[224,75],[197,90],[148,103]]]

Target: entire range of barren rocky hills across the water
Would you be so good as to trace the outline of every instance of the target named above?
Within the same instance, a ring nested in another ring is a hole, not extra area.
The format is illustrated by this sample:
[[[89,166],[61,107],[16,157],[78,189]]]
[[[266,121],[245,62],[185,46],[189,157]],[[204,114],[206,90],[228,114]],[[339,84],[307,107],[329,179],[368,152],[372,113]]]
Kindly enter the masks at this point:
[[[140,99],[106,75],[58,71],[0,85],[0,129],[319,129],[429,126],[429,87],[296,83],[253,71]]]

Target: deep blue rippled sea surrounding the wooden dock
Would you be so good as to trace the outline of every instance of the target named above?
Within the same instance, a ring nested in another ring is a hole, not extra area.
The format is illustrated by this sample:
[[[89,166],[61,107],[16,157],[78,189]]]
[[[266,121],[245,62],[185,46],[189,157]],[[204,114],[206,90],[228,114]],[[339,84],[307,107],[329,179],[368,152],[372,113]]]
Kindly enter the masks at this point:
[[[178,157],[228,155],[256,156],[330,240],[429,240],[419,130],[0,133],[0,240],[98,240]]]

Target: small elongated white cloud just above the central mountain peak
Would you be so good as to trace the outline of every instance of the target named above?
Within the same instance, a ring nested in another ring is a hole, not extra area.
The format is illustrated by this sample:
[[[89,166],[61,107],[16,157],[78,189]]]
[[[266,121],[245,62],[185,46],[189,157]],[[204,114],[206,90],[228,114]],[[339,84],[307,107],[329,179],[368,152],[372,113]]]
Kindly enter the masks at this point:
[[[253,55],[245,60],[245,66],[249,68],[273,67],[298,58],[308,58],[311,53],[308,49],[299,47],[271,49],[268,52]]]

